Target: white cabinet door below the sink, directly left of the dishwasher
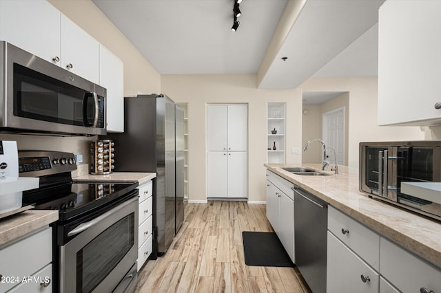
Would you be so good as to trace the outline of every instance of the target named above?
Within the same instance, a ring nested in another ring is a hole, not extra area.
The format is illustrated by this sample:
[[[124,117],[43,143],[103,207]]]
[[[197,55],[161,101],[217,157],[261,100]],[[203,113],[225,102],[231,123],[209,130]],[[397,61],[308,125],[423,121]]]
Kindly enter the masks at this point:
[[[291,261],[296,263],[294,259],[294,200],[290,199],[285,193],[280,193],[279,204],[280,235],[278,235],[278,238],[288,252]]]

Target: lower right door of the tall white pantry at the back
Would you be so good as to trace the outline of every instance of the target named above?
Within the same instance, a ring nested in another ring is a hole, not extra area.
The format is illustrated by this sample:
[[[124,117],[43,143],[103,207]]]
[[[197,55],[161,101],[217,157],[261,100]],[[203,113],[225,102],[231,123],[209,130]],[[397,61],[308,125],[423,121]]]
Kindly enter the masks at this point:
[[[248,153],[231,151],[228,153],[227,194],[228,197],[246,198],[248,190]]]

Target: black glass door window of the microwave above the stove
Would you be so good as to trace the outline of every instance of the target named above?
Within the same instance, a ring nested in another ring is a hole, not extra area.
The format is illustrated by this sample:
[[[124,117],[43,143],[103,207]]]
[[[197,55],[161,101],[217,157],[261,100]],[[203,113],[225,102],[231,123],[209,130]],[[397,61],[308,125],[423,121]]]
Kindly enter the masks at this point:
[[[83,100],[88,94],[83,89],[14,63],[14,116],[83,126]],[[89,100],[86,103],[88,108],[93,102]],[[88,113],[93,114],[93,111],[88,109]]]

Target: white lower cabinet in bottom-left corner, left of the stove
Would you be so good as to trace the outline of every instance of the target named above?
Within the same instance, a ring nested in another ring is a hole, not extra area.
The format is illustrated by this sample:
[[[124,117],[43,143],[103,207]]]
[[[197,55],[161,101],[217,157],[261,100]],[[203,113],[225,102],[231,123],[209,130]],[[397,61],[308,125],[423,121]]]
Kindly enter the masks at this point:
[[[51,263],[52,228],[6,244],[0,249],[0,292],[52,292]]]

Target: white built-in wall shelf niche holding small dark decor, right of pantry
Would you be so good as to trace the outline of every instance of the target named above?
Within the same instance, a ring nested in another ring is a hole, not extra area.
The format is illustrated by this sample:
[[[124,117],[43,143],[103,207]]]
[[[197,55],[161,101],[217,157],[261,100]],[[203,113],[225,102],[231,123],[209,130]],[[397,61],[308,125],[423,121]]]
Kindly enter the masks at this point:
[[[267,162],[285,164],[285,102],[267,105]],[[274,150],[274,146],[276,149]]]

